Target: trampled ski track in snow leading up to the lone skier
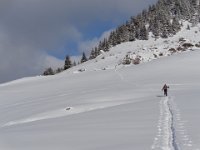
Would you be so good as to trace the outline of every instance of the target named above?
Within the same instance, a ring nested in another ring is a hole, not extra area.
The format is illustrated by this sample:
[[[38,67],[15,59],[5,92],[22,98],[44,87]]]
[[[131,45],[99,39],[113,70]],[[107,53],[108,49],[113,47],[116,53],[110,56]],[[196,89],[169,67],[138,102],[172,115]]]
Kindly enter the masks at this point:
[[[181,119],[180,110],[172,97],[160,100],[158,131],[154,138],[152,150],[199,150],[195,148]]]

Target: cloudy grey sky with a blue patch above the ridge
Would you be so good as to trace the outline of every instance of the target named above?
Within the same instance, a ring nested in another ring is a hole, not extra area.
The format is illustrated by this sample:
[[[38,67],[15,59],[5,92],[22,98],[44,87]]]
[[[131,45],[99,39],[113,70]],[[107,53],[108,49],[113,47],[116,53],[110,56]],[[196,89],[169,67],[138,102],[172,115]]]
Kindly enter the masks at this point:
[[[1,0],[0,83],[62,67],[157,0]]]

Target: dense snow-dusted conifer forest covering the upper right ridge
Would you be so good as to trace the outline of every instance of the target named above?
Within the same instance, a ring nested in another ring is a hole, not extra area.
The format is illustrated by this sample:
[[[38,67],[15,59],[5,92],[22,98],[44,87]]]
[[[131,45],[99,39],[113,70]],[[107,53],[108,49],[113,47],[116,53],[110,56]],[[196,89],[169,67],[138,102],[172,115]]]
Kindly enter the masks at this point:
[[[199,0],[158,0],[148,10],[132,16],[125,24],[117,27],[107,39],[100,41],[98,50],[93,50],[95,57],[100,50],[108,51],[110,47],[123,42],[147,40],[149,32],[156,39],[173,36],[180,31],[181,20],[187,20],[193,25],[200,22]]]

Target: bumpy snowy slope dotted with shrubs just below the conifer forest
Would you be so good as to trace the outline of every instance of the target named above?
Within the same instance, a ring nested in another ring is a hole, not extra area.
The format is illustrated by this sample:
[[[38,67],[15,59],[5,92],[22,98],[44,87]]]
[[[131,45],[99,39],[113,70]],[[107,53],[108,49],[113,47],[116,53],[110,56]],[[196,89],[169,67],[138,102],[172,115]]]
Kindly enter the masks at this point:
[[[101,54],[84,64],[69,69],[67,72],[80,73],[85,71],[100,71],[106,69],[121,68],[125,60],[128,59],[130,65],[137,60],[138,64],[146,63],[166,56],[176,55],[183,52],[189,52],[193,49],[200,49],[200,24],[191,27],[191,23],[183,22],[183,27],[176,35],[169,38],[154,37],[149,40],[137,40],[134,42],[125,42],[112,47],[108,52],[101,51]],[[189,46],[188,46],[189,44]]]

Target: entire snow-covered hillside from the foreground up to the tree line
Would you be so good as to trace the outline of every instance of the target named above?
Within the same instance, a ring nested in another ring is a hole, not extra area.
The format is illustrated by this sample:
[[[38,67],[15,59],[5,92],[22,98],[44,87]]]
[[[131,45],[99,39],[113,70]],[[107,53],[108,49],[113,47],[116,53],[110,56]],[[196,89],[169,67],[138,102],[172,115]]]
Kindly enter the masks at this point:
[[[200,26],[185,28],[55,76],[0,85],[0,149],[199,150],[200,49],[169,51],[200,42]],[[127,54],[140,64],[122,65]]]

